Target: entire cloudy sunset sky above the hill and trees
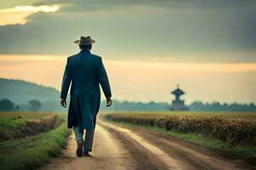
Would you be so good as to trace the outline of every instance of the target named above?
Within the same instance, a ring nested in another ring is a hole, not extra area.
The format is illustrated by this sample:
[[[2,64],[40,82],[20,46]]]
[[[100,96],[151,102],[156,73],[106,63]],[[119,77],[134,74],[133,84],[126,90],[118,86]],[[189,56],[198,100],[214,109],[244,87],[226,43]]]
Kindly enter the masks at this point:
[[[0,0],[0,77],[60,89],[80,36],[113,98],[256,103],[254,0]]]

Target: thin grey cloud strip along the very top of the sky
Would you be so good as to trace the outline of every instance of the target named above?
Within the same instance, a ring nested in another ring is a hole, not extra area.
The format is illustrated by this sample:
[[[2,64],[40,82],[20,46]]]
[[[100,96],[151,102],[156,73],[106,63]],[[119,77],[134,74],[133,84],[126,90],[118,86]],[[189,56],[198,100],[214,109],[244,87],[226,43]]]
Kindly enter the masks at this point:
[[[254,6],[254,0],[43,0],[35,5],[68,4],[61,10],[93,11],[148,6],[160,8],[242,8]]]

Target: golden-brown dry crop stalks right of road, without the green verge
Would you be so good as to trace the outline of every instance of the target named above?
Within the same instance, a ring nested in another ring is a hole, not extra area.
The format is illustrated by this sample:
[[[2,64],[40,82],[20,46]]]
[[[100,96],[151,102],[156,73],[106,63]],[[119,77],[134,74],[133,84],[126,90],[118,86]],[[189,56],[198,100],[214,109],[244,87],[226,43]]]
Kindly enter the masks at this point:
[[[129,122],[137,125],[161,127],[180,133],[201,133],[229,144],[256,145],[256,114],[211,113],[184,114],[109,114],[106,117],[115,122]],[[251,117],[251,118],[250,118]]]

